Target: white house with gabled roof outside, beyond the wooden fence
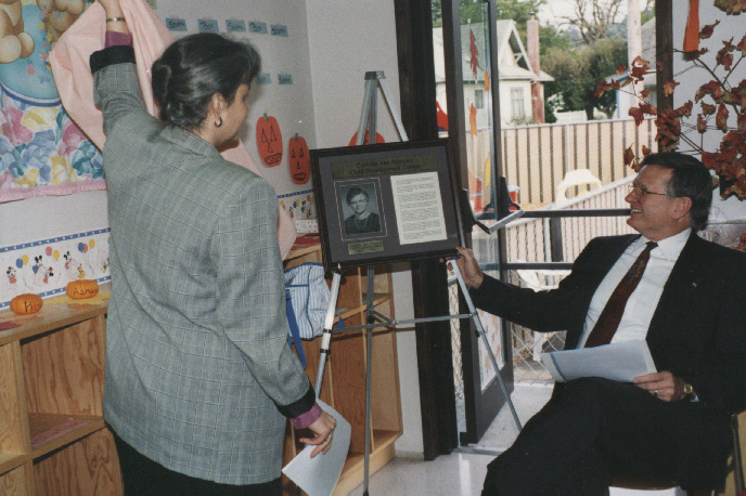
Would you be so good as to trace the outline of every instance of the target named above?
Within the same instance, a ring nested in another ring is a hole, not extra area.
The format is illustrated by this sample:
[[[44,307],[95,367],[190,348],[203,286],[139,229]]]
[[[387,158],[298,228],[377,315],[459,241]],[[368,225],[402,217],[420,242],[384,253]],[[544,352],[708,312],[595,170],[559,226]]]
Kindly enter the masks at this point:
[[[466,115],[476,113],[471,118],[470,131],[476,133],[490,125],[488,99],[489,81],[485,81],[487,64],[489,64],[488,45],[486,42],[487,26],[484,23],[470,23],[461,29],[462,70],[464,77],[464,106]],[[546,73],[535,71],[529,62],[528,53],[512,19],[498,21],[498,84],[500,93],[501,125],[520,125],[532,121],[531,84],[540,83],[540,97],[537,105],[543,108],[543,82],[553,81]],[[433,29],[433,44],[435,49],[436,99],[443,112],[448,112],[446,104],[446,69],[443,60],[442,29]],[[537,73],[539,75],[537,75]],[[474,106],[474,108],[472,108]],[[476,121],[476,130],[472,123]]]

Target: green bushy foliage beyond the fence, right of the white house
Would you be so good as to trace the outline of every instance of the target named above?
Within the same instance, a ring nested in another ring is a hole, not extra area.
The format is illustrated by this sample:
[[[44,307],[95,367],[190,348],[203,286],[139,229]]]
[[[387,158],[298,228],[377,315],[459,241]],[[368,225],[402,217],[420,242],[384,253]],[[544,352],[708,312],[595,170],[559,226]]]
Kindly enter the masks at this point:
[[[616,106],[614,92],[595,99],[599,80],[616,74],[617,67],[627,64],[627,43],[619,38],[603,38],[576,50],[552,49],[541,66],[554,77],[544,86],[546,101],[555,102],[556,110],[584,110],[589,120],[593,109],[610,116]],[[550,99],[557,95],[555,99]]]

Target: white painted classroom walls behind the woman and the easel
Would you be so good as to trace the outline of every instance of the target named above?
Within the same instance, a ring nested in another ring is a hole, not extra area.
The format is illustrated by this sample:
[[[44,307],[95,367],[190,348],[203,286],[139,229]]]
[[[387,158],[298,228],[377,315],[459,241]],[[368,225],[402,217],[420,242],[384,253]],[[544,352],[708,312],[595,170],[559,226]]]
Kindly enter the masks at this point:
[[[262,55],[262,73],[272,78],[268,86],[255,84],[248,128],[244,133],[249,153],[257,162],[253,131],[256,120],[267,110],[278,116],[285,151],[287,140],[295,132],[300,132],[310,147],[347,145],[359,125],[368,70],[385,71],[399,106],[395,15],[390,0],[156,0],[156,5],[162,18],[184,19],[190,31],[196,30],[200,18],[217,19],[221,32],[226,31],[228,18],[287,26],[288,36],[282,39],[246,34]],[[242,32],[235,35],[244,36]],[[280,87],[278,74],[292,74],[292,87]],[[387,142],[398,141],[381,93],[378,132]],[[281,199],[286,201],[285,207],[293,208],[293,203],[303,198],[311,186],[310,183],[296,185],[290,180],[286,160],[283,158],[280,167],[260,168]],[[309,212],[296,208],[294,214],[305,218]],[[0,204],[0,256],[3,249],[59,237],[85,237],[107,227],[106,192]],[[407,264],[397,265],[394,287],[397,317],[412,318],[412,285]],[[404,434],[396,443],[396,449],[400,455],[421,457],[420,390],[412,328],[399,331],[398,345]]]

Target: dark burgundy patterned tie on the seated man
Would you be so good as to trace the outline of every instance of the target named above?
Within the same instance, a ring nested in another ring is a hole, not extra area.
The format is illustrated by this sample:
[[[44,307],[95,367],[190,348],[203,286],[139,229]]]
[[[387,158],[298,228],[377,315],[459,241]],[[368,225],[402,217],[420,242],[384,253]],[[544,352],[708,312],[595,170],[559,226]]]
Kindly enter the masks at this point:
[[[640,253],[638,260],[635,260],[630,270],[627,271],[627,274],[625,274],[625,277],[608,299],[603,312],[601,312],[595,326],[593,326],[593,330],[586,341],[586,348],[600,347],[612,342],[612,338],[619,327],[621,315],[625,313],[627,300],[629,300],[630,295],[632,295],[634,288],[640,284],[647,261],[651,259],[651,251],[656,246],[658,246],[657,243],[647,242],[647,246],[642,253]]]

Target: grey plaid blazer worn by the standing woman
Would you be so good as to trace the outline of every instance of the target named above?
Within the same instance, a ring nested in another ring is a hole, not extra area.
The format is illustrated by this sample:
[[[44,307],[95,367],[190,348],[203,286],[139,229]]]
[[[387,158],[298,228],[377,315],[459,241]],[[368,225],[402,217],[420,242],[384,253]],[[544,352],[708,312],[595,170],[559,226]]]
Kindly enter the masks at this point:
[[[285,416],[314,394],[286,342],[275,193],[150,116],[128,61],[131,47],[91,56],[112,227],[104,416],[168,469],[276,479]]]

